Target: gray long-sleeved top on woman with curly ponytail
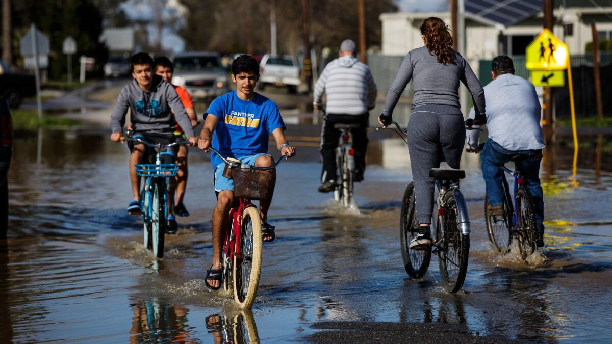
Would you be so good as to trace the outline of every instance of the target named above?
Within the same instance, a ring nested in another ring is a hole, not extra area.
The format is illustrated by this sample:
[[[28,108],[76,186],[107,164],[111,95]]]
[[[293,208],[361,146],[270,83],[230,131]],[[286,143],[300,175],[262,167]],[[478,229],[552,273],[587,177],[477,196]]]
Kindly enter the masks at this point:
[[[384,104],[383,114],[391,116],[408,81],[414,84],[412,108],[421,105],[446,105],[459,108],[459,81],[468,88],[474,99],[476,114],[485,114],[485,92],[461,54],[455,53],[455,62],[445,65],[438,62],[427,47],[411,50],[401,62],[397,77],[391,84]]]

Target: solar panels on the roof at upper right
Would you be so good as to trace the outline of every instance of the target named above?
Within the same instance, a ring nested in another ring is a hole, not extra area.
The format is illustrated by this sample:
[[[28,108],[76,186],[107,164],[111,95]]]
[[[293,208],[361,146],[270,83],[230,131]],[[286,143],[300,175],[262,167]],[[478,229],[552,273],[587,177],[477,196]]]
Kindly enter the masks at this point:
[[[510,26],[542,10],[542,0],[465,0],[465,11]]]

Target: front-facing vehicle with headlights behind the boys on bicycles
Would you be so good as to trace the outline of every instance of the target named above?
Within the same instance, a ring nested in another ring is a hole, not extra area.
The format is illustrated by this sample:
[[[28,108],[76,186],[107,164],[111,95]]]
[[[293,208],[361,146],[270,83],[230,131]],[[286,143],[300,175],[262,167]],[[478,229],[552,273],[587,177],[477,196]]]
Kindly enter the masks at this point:
[[[172,83],[187,89],[195,100],[210,100],[230,91],[228,71],[217,53],[189,51],[173,57]]]

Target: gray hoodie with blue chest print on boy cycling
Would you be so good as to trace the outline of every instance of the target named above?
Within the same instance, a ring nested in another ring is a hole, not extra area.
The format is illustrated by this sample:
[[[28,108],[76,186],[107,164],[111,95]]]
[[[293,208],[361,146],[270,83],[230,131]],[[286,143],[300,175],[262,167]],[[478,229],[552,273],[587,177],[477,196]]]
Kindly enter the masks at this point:
[[[130,108],[133,130],[172,136],[174,135],[174,124],[178,122],[185,136],[188,138],[195,136],[191,121],[174,87],[163,81],[159,75],[153,76],[152,83],[149,92],[143,91],[135,79],[124,86],[119,93],[113,114],[111,114],[112,132],[122,131],[125,114]]]

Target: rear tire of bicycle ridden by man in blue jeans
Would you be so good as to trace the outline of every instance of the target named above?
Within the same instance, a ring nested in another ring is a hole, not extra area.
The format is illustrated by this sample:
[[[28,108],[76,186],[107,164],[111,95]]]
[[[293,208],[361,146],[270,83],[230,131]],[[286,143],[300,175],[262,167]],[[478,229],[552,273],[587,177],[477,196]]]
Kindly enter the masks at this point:
[[[526,187],[517,189],[517,234],[518,247],[521,258],[526,260],[528,256],[537,250],[535,214],[531,193]]]

